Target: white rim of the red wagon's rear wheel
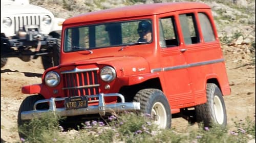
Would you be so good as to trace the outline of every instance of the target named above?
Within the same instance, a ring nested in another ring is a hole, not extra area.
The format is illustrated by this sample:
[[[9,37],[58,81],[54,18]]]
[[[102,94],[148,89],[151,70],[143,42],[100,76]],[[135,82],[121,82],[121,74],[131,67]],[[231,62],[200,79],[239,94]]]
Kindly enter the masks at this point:
[[[223,106],[220,98],[215,95],[214,96],[214,112],[215,112],[215,118],[218,124],[223,124],[224,122],[224,112],[223,112]]]

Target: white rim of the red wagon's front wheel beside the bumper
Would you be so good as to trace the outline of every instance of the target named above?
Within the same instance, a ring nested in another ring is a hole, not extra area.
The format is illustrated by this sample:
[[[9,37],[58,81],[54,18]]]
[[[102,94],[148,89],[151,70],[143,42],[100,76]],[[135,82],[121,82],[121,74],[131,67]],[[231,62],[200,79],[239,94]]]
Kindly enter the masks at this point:
[[[151,116],[154,117],[154,123],[158,125],[159,128],[166,128],[167,115],[165,108],[161,102],[156,102],[151,111]]]

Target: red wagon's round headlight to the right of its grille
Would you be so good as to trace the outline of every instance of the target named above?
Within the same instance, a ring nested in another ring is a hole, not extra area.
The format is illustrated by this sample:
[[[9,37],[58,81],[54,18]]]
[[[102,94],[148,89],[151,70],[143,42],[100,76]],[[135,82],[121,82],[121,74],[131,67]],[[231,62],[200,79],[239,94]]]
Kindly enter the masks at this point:
[[[100,77],[103,81],[110,82],[116,78],[116,71],[112,67],[106,66],[101,69]]]

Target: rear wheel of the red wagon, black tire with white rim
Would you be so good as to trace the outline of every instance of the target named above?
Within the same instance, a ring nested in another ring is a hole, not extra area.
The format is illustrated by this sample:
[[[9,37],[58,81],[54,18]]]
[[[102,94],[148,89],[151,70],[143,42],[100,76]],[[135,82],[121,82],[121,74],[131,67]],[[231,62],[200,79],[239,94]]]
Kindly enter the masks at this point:
[[[226,106],[218,86],[214,83],[207,83],[206,96],[206,103],[195,107],[197,122],[203,122],[204,127],[210,127],[211,123],[226,127]]]

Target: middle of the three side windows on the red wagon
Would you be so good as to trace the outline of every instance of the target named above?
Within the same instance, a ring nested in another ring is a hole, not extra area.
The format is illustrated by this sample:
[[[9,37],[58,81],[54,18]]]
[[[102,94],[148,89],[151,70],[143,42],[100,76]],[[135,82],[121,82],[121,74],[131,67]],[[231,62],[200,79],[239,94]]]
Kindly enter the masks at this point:
[[[200,39],[194,14],[181,14],[179,18],[185,44],[199,43]]]

